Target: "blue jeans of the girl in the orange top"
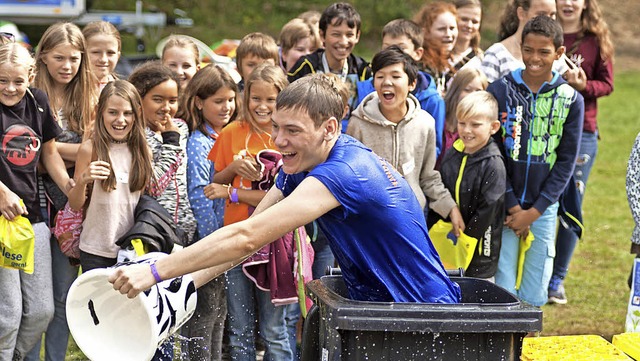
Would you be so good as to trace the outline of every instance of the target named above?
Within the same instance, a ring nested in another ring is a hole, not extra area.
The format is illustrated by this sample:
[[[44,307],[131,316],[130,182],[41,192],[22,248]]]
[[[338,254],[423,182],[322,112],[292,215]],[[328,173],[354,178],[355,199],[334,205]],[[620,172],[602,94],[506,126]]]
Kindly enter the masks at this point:
[[[274,306],[271,294],[259,290],[242,272],[242,266],[227,271],[227,321],[230,356],[234,361],[255,361],[256,306],[265,359],[292,361],[285,324],[286,306]]]

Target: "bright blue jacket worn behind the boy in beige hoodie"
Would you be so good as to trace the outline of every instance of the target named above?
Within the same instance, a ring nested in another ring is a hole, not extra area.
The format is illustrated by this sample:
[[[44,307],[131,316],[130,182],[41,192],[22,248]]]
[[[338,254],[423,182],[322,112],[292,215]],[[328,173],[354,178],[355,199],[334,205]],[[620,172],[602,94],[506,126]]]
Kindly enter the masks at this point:
[[[364,98],[376,91],[373,86],[373,79],[367,79],[359,81],[357,86],[358,90],[358,103],[360,105]],[[418,78],[416,79],[416,88],[411,92],[413,96],[420,102],[420,107],[429,113],[433,120],[435,120],[436,128],[436,158],[442,153],[442,134],[444,132],[445,121],[445,105],[444,100],[440,96],[440,92],[436,88],[436,83],[433,81],[431,75],[419,71]]]

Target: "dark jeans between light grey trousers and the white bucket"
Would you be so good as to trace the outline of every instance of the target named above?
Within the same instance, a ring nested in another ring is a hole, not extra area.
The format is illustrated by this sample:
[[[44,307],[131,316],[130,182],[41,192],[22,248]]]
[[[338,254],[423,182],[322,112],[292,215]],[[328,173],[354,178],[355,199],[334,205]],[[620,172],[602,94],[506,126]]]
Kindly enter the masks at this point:
[[[69,263],[69,258],[60,250],[55,236],[51,236],[51,268],[55,311],[44,338],[44,359],[45,361],[64,361],[69,343],[69,326],[67,326],[65,304],[69,288],[78,277],[78,267]],[[25,361],[40,361],[41,344],[42,341],[38,341],[24,358]]]

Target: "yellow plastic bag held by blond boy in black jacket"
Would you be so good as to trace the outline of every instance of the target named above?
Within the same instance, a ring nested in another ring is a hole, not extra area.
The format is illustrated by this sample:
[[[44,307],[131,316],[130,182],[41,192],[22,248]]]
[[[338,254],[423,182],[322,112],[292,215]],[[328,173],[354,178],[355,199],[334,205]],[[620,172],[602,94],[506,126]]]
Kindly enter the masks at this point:
[[[429,237],[440,255],[444,268],[457,269],[462,267],[466,270],[478,246],[478,240],[464,233],[460,233],[460,237],[456,237],[452,230],[451,222],[439,220],[429,229]]]

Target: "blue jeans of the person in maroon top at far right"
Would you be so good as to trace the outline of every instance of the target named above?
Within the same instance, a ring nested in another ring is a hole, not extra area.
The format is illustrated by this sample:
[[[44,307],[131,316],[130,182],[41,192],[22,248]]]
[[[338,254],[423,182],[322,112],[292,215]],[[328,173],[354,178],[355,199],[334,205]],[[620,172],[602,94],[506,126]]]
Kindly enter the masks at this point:
[[[578,182],[580,205],[582,205],[582,201],[584,200],[587,180],[589,179],[593,163],[596,160],[596,154],[598,154],[598,133],[582,133],[576,169],[573,171],[573,176],[576,182]],[[556,241],[556,258],[553,263],[553,276],[561,279],[567,276],[569,262],[571,262],[571,257],[573,256],[573,251],[577,243],[578,236],[560,224]]]

